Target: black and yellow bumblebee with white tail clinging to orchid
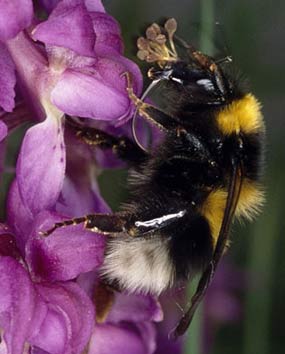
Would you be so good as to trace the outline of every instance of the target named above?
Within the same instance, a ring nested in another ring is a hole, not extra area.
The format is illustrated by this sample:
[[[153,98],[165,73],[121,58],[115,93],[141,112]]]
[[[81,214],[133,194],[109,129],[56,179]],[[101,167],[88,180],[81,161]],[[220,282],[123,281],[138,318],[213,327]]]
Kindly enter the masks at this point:
[[[137,113],[164,132],[155,148],[95,128],[78,127],[87,144],[113,151],[130,165],[129,200],[114,214],[57,223],[84,223],[106,235],[102,279],[131,292],[161,294],[200,272],[174,336],[182,335],[228,246],[234,218],[252,219],[263,203],[260,175],[264,122],[258,100],[227,73],[225,61],[201,53],[175,35],[176,21],[151,25],[138,40],[138,57],[153,63],[147,92],[159,85],[163,109],[127,91]],[[175,44],[184,47],[186,59]]]

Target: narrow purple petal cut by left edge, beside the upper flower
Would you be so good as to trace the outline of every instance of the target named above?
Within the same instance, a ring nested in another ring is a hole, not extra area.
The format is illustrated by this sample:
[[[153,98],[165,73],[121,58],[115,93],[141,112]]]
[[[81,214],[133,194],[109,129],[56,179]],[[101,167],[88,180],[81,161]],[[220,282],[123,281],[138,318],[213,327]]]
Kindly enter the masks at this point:
[[[0,42],[0,107],[2,107],[6,112],[12,112],[15,107],[15,84],[15,65],[7,48]]]

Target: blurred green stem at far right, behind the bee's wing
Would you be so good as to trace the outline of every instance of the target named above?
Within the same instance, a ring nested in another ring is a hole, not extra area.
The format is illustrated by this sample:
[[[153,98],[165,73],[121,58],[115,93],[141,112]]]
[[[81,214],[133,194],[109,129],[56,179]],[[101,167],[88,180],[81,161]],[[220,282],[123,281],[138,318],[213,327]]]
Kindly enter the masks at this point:
[[[245,299],[244,354],[270,353],[272,283],[277,251],[275,246],[280,227],[280,215],[276,211],[283,209],[280,195],[283,178],[272,178],[274,182],[266,193],[268,207],[259,217],[251,235],[248,269],[250,276],[257,280],[249,284],[251,287]]]

